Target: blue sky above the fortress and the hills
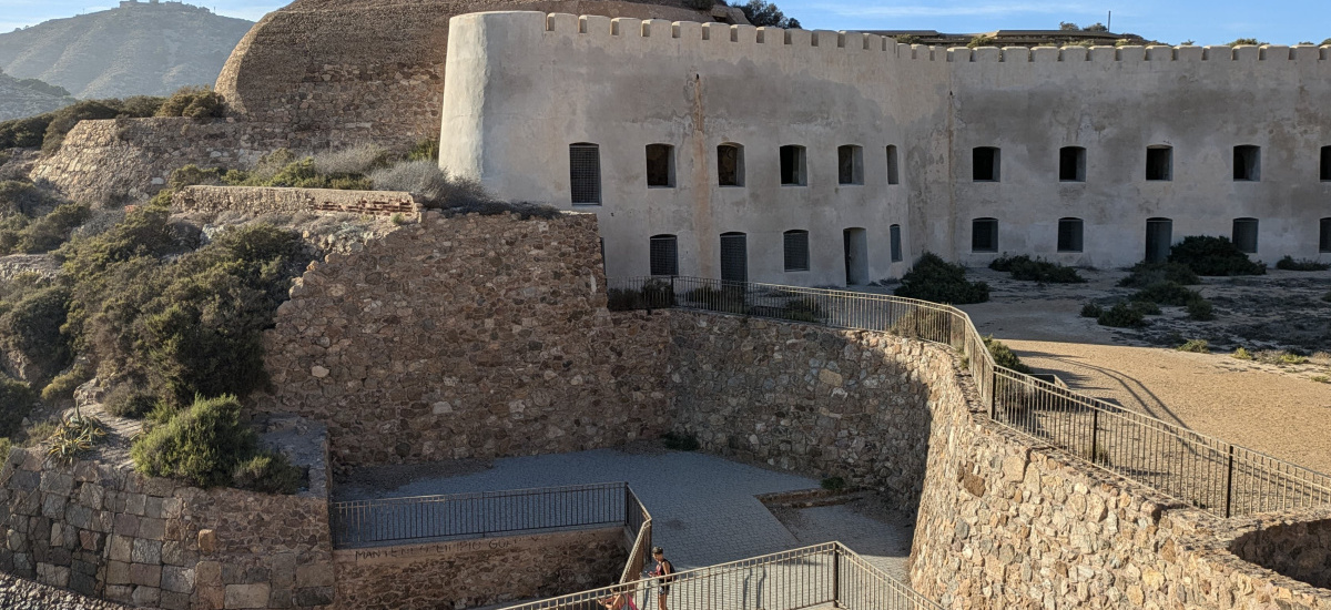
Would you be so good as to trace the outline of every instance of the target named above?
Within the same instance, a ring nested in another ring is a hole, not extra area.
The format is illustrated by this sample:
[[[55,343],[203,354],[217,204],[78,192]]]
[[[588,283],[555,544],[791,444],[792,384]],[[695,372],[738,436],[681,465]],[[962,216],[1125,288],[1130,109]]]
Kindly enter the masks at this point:
[[[116,1],[0,0],[0,32],[48,19],[104,11]],[[258,20],[282,1],[198,1],[221,15]],[[1223,44],[1255,37],[1272,44],[1331,37],[1331,0],[777,0],[805,28],[820,29],[1053,29],[1059,21],[1090,24],[1114,12],[1115,32],[1165,43]]]

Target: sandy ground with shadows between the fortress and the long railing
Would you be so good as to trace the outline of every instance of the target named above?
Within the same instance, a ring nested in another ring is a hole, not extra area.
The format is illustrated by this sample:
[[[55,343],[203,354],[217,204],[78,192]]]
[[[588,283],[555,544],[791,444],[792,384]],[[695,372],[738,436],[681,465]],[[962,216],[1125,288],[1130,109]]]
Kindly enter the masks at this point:
[[[1141,330],[1081,317],[1089,301],[1107,305],[1133,292],[1115,286],[1123,272],[1082,274],[1089,284],[1041,286],[973,269],[969,276],[989,282],[993,297],[962,309],[981,333],[1077,390],[1331,473],[1331,384],[1314,381],[1331,376],[1328,362],[1274,366],[1229,356],[1240,345],[1331,352],[1331,304],[1320,301],[1331,272],[1207,278],[1201,288],[1217,305],[1215,321],[1189,321],[1181,308],[1163,308]],[[1173,349],[1189,338],[1206,338],[1217,353]]]

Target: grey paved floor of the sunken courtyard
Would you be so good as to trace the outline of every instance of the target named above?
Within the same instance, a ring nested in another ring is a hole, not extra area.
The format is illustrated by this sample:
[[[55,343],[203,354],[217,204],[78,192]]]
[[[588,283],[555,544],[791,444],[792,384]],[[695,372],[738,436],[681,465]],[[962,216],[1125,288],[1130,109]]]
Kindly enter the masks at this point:
[[[363,473],[358,478],[366,478]],[[840,539],[866,559],[904,561],[910,530],[847,507],[805,509],[799,537],[755,498],[815,489],[819,481],[701,453],[594,450],[496,459],[490,469],[411,481],[397,489],[343,489],[339,499],[391,498],[627,481],[652,513],[652,541],[679,569],[763,555]],[[844,510],[836,510],[844,509]],[[905,551],[900,547],[905,541]]]

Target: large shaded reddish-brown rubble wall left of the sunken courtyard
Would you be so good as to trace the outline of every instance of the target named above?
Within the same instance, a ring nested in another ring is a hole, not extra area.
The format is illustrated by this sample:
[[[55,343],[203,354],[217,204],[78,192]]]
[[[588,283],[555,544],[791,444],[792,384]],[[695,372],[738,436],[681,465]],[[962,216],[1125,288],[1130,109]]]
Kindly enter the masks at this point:
[[[327,424],[337,466],[563,453],[669,425],[662,316],[606,310],[596,220],[426,213],[311,265],[257,409]]]

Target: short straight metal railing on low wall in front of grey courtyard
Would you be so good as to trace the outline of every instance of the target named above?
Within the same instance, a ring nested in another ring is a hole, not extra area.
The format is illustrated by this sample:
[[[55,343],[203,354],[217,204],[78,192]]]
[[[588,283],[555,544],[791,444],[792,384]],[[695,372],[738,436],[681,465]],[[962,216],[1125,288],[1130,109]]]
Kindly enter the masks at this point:
[[[335,547],[615,525],[636,535],[651,519],[623,482],[357,499],[333,502],[329,513]]]

